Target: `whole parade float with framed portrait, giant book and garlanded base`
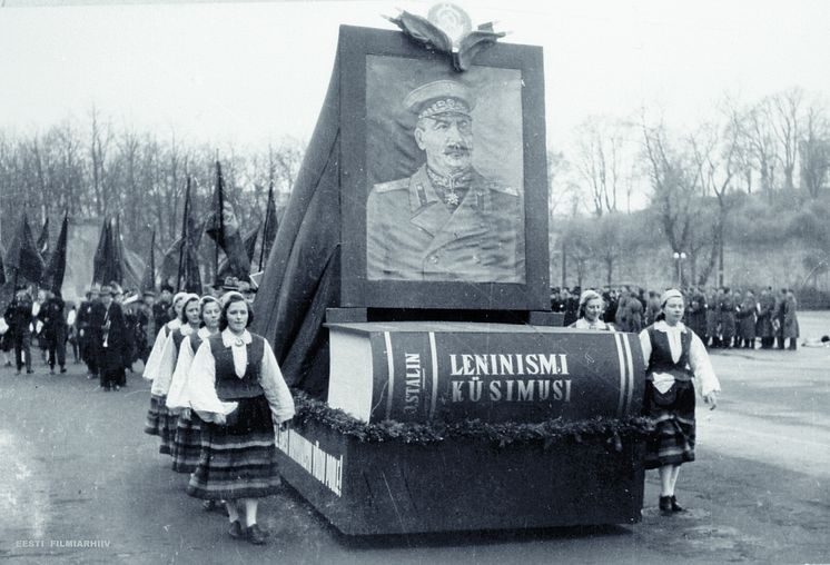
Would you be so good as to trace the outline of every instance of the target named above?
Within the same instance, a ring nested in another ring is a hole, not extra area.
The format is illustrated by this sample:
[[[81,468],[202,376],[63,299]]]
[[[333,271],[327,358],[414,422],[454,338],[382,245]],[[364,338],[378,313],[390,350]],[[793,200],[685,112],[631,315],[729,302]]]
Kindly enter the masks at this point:
[[[542,49],[393,21],[340,28],[257,297],[280,473],[348,535],[638,522],[636,336],[550,311]]]

